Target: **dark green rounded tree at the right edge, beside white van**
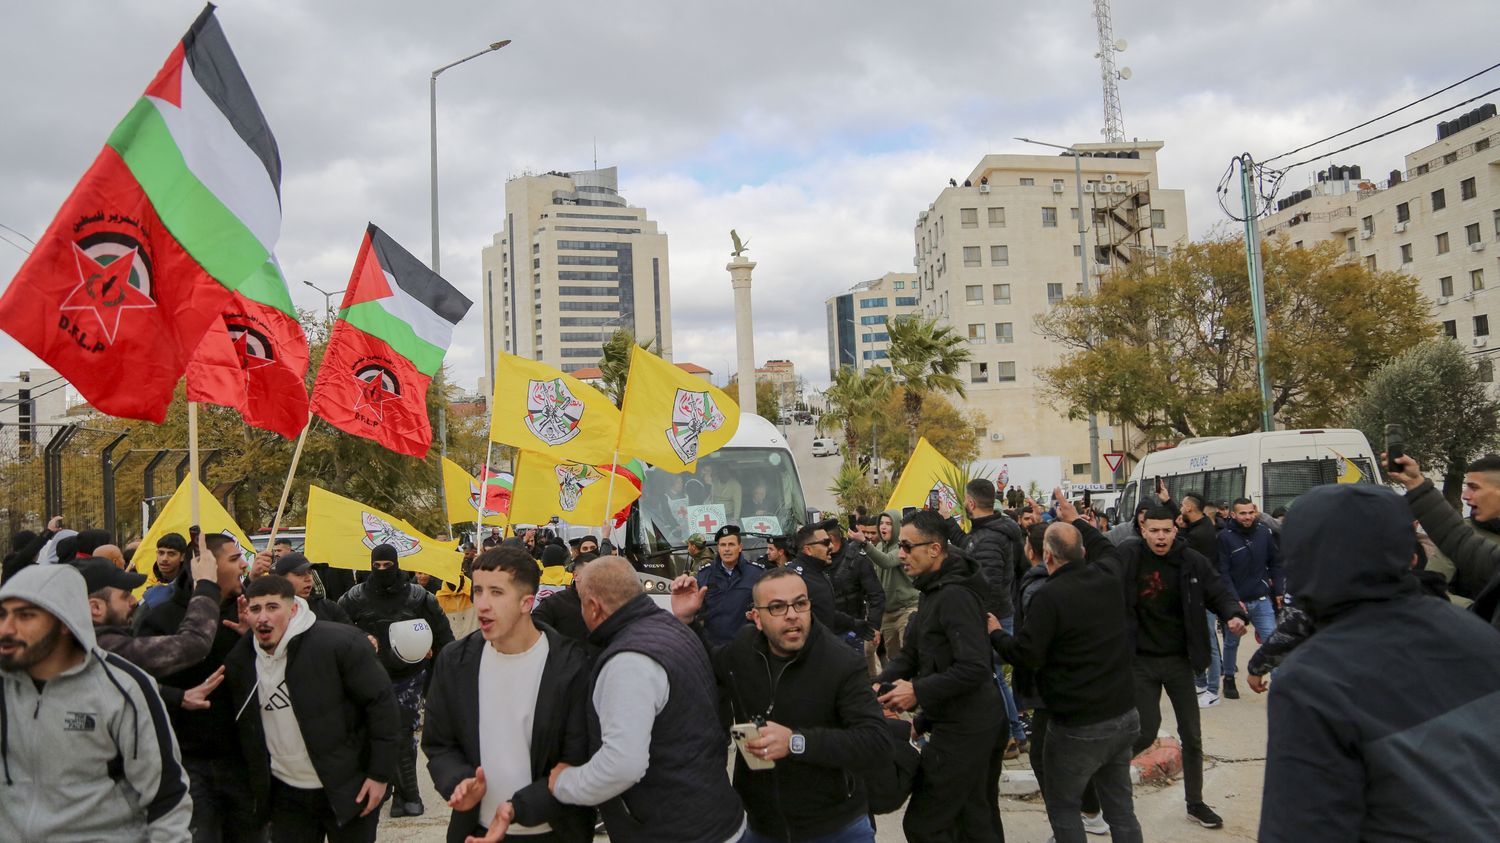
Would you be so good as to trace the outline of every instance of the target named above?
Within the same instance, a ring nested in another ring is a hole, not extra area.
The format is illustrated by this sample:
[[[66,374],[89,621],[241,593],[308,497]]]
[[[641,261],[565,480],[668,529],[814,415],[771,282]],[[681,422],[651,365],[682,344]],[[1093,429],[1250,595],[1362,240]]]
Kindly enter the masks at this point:
[[[1492,363],[1479,362],[1490,368]],[[1456,342],[1430,339],[1390,360],[1360,390],[1347,424],[1378,450],[1386,424],[1401,424],[1407,454],[1443,477],[1443,495],[1456,508],[1464,466],[1500,444],[1500,404]]]

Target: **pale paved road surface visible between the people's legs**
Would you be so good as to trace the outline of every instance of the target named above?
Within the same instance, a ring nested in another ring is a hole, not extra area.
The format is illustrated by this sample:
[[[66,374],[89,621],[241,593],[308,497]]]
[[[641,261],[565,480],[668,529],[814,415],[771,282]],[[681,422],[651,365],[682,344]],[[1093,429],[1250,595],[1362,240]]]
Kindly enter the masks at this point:
[[[826,459],[826,458],[824,458]],[[1254,651],[1245,639],[1240,646],[1240,666]],[[1239,672],[1244,680],[1244,669]],[[1244,686],[1244,681],[1240,682]],[[1203,776],[1204,800],[1224,818],[1224,828],[1210,831],[1188,822],[1184,813],[1182,782],[1167,786],[1142,784],[1136,788],[1136,816],[1140,819],[1146,840],[1154,843],[1210,843],[1232,840],[1256,840],[1260,822],[1260,790],[1266,770],[1266,698],[1240,688],[1245,694],[1238,700],[1226,700],[1203,711],[1204,752],[1208,770]],[[1161,699],[1162,730],[1176,734],[1176,720],[1166,696]],[[1010,766],[1026,766],[1026,756]],[[438,800],[422,766],[423,798],[428,814],[398,820],[382,819],[380,840],[400,843],[440,843],[447,830],[448,810]],[[1000,814],[1005,819],[1006,843],[1044,843],[1052,831],[1047,814],[1038,796],[1002,798]],[[879,818],[879,843],[900,843],[900,814]],[[604,840],[600,836],[598,840]],[[1108,840],[1090,837],[1090,840]]]

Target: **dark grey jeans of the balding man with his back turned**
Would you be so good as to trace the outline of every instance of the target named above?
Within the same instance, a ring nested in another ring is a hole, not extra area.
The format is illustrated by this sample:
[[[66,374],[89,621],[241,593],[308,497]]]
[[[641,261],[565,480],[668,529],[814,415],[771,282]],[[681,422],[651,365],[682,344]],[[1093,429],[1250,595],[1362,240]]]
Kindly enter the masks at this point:
[[[1042,798],[1047,822],[1058,843],[1083,843],[1083,789],[1094,782],[1110,825],[1114,843],[1136,843],[1142,838],[1140,824],[1131,798],[1131,744],[1140,735],[1140,716],[1134,710],[1102,723],[1064,726],[1047,724],[1047,780]]]

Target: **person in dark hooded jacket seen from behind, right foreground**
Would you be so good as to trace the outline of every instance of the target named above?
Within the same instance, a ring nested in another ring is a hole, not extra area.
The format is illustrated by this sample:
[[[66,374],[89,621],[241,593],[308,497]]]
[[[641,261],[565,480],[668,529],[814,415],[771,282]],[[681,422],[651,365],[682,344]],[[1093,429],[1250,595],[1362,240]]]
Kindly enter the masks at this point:
[[[1317,633],[1270,690],[1262,840],[1500,840],[1500,636],[1420,594],[1414,540],[1368,483],[1288,512],[1287,585]]]

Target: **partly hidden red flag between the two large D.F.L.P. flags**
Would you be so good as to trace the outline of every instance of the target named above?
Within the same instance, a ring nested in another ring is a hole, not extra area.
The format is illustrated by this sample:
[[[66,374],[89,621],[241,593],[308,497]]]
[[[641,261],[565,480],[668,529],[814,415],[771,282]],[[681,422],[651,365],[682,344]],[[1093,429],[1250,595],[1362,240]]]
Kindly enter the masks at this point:
[[[276,258],[234,292],[188,363],[188,400],[292,440],[308,424],[308,334]]]

